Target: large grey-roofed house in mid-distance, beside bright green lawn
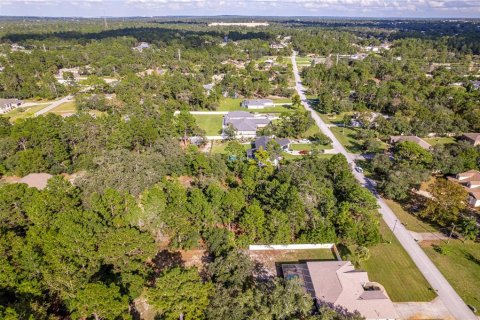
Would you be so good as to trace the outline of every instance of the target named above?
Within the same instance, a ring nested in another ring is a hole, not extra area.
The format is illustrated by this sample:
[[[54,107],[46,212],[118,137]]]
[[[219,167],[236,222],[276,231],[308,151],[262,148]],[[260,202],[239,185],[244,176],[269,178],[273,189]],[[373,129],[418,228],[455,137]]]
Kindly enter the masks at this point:
[[[223,125],[232,125],[239,137],[255,137],[257,130],[266,127],[272,121],[265,115],[254,115],[246,111],[232,111],[223,118]]]

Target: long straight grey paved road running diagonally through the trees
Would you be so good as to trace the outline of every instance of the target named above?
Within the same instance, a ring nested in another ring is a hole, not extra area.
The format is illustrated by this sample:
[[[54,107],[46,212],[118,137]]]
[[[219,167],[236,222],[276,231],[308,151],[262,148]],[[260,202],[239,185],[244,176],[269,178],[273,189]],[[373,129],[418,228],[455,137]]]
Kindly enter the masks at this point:
[[[304,93],[305,88],[303,87],[302,82],[300,80],[300,75],[298,73],[295,57],[296,57],[296,53],[294,52],[292,54],[291,59],[292,59],[293,73],[295,76],[295,88],[298,94],[300,95],[303,106],[307,111],[311,112],[312,118],[315,120],[320,130],[322,130],[324,134],[326,134],[330,139],[332,139],[333,148],[347,158],[347,161],[352,165],[352,169],[353,169],[354,156],[352,156],[347,152],[347,150],[345,150],[342,144],[333,135],[330,128],[323,122],[323,120],[318,116],[318,114],[314,112],[313,109],[310,108],[310,106],[308,105],[307,98],[305,97],[305,93]],[[467,307],[467,305],[463,302],[460,296],[455,292],[455,290],[453,290],[452,286],[448,283],[445,277],[443,277],[443,275],[440,273],[437,267],[428,258],[428,256],[422,250],[422,248],[420,248],[418,243],[413,239],[410,232],[401,223],[396,223],[398,221],[397,217],[375,190],[375,182],[365,178],[365,176],[362,173],[359,173],[355,170],[353,170],[353,173],[355,175],[355,178],[375,195],[375,197],[377,198],[378,205],[380,206],[379,212],[382,214],[382,217],[387,223],[388,227],[390,228],[390,230],[393,230],[395,228],[394,233],[398,241],[401,243],[405,251],[413,259],[413,261],[417,265],[420,272],[424,275],[424,277],[430,283],[430,286],[433,289],[435,289],[438,296],[447,307],[448,311],[450,311],[450,313],[455,317],[455,319],[478,320],[478,318]]]

